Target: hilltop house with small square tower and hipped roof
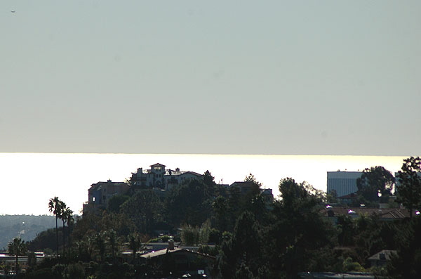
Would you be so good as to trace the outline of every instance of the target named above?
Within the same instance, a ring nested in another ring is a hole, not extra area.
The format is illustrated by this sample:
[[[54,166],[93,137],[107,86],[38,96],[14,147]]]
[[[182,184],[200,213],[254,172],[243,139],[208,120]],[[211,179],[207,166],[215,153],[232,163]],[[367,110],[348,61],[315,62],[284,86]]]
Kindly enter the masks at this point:
[[[132,173],[131,183],[136,188],[161,188],[170,190],[189,179],[201,179],[201,174],[194,171],[180,171],[179,168],[166,169],[164,164],[152,164],[150,169],[139,168]]]

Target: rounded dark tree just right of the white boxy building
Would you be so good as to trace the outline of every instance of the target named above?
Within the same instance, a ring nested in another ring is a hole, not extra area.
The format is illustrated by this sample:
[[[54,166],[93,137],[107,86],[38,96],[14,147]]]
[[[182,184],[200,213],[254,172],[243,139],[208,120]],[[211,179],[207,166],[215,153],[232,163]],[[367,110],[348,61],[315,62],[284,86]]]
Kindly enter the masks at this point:
[[[377,202],[379,195],[383,198],[392,195],[394,177],[384,167],[375,166],[364,169],[361,177],[356,180],[357,195],[361,195],[368,202]]]

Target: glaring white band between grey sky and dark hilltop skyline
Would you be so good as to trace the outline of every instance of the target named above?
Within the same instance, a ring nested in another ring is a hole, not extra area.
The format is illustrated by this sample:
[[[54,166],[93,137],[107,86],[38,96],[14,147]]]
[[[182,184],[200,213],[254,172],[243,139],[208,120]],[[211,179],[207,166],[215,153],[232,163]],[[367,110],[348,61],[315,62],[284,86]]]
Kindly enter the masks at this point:
[[[60,197],[76,214],[98,181],[123,181],[139,167],[165,164],[167,169],[209,170],[216,183],[243,181],[248,174],[279,195],[279,181],[292,177],[326,191],[326,171],[362,171],[383,166],[394,174],[406,157],[326,155],[182,155],[0,153],[0,214],[49,214],[48,199]]]

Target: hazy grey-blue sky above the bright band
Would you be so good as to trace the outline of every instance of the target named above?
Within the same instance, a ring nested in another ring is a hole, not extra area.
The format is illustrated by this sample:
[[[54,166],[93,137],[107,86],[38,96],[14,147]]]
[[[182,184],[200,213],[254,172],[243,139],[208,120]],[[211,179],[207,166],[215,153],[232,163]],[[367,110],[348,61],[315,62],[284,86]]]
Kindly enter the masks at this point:
[[[420,155],[420,11],[2,0],[0,152]]]

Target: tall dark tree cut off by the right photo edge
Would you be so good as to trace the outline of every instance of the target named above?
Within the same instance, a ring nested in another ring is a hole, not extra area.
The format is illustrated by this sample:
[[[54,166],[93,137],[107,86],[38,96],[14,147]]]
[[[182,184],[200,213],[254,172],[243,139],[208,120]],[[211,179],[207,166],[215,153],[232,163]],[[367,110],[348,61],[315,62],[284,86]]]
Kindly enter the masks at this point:
[[[420,171],[420,157],[409,157],[403,160],[402,170],[396,174],[396,201],[408,209],[410,218],[413,210],[421,205]]]

